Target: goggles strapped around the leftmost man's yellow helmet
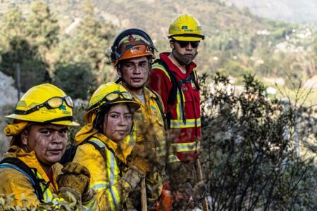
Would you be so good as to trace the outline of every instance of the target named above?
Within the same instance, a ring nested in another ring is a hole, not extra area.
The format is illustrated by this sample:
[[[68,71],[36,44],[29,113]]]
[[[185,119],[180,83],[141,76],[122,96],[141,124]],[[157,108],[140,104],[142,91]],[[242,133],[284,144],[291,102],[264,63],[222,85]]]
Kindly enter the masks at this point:
[[[36,110],[39,110],[40,108],[44,106],[48,109],[59,108],[63,106],[63,101],[66,102],[67,106],[69,106],[70,108],[73,108],[73,101],[72,101],[72,98],[70,98],[70,96],[64,96],[64,97],[56,96],[56,97],[49,98],[49,100],[33,108],[30,108],[29,110],[15,110],[14,113],[18,115],[28,115],[30,113],[35,112]]]

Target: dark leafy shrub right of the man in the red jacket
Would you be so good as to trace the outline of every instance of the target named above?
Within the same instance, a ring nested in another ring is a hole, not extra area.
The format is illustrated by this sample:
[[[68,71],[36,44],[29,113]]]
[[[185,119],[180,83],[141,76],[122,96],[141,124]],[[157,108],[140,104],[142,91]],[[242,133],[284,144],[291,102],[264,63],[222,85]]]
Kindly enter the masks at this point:
[[[316,118],[302,105],[268,100],[254,76],[244,75],[242,94],[228,86],[218,73],[213,94],[202,86],[201,163],[211,210],[316,210],[316,150],[304,141],[316,141]],[[310,157],[297,155],[296,141]]]

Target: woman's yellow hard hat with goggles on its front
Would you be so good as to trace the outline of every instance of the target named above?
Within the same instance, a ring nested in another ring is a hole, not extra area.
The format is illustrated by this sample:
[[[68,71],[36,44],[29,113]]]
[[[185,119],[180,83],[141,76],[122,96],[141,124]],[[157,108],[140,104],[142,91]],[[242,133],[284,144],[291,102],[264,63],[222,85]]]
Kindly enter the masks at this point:
[[[128,92],[122,85],[115,82],[108,82],[101,84],[100,87],[90,98],[87,112],[84,115],[85,122],[88,122],[89,114],[100,113],[105,110],[109,105],[116,103],[128,103],[130,108],[137,110],[140,106],[137,101],[134,101],[130,92]]]

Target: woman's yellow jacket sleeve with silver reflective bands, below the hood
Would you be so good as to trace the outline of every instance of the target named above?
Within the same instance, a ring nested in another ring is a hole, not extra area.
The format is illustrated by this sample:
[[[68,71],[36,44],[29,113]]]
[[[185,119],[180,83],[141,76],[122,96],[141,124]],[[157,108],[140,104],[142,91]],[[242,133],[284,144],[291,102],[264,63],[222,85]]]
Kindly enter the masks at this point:
[[[99,210],[120,210],[132,187],[118,175],[118,165],[111,151],[106,149],[106,162],[92,144],[77,147],[73,162],[85,165],[90,172],[90,188],[97,192]]]

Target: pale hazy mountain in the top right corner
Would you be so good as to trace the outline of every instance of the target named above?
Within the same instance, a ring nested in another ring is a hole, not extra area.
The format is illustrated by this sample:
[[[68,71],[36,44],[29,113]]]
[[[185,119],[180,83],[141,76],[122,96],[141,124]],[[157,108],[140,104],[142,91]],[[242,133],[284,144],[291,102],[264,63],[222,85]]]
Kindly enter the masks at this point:
[[[317,23],[316,0],[226,0],[256,15],[294,23]]]

